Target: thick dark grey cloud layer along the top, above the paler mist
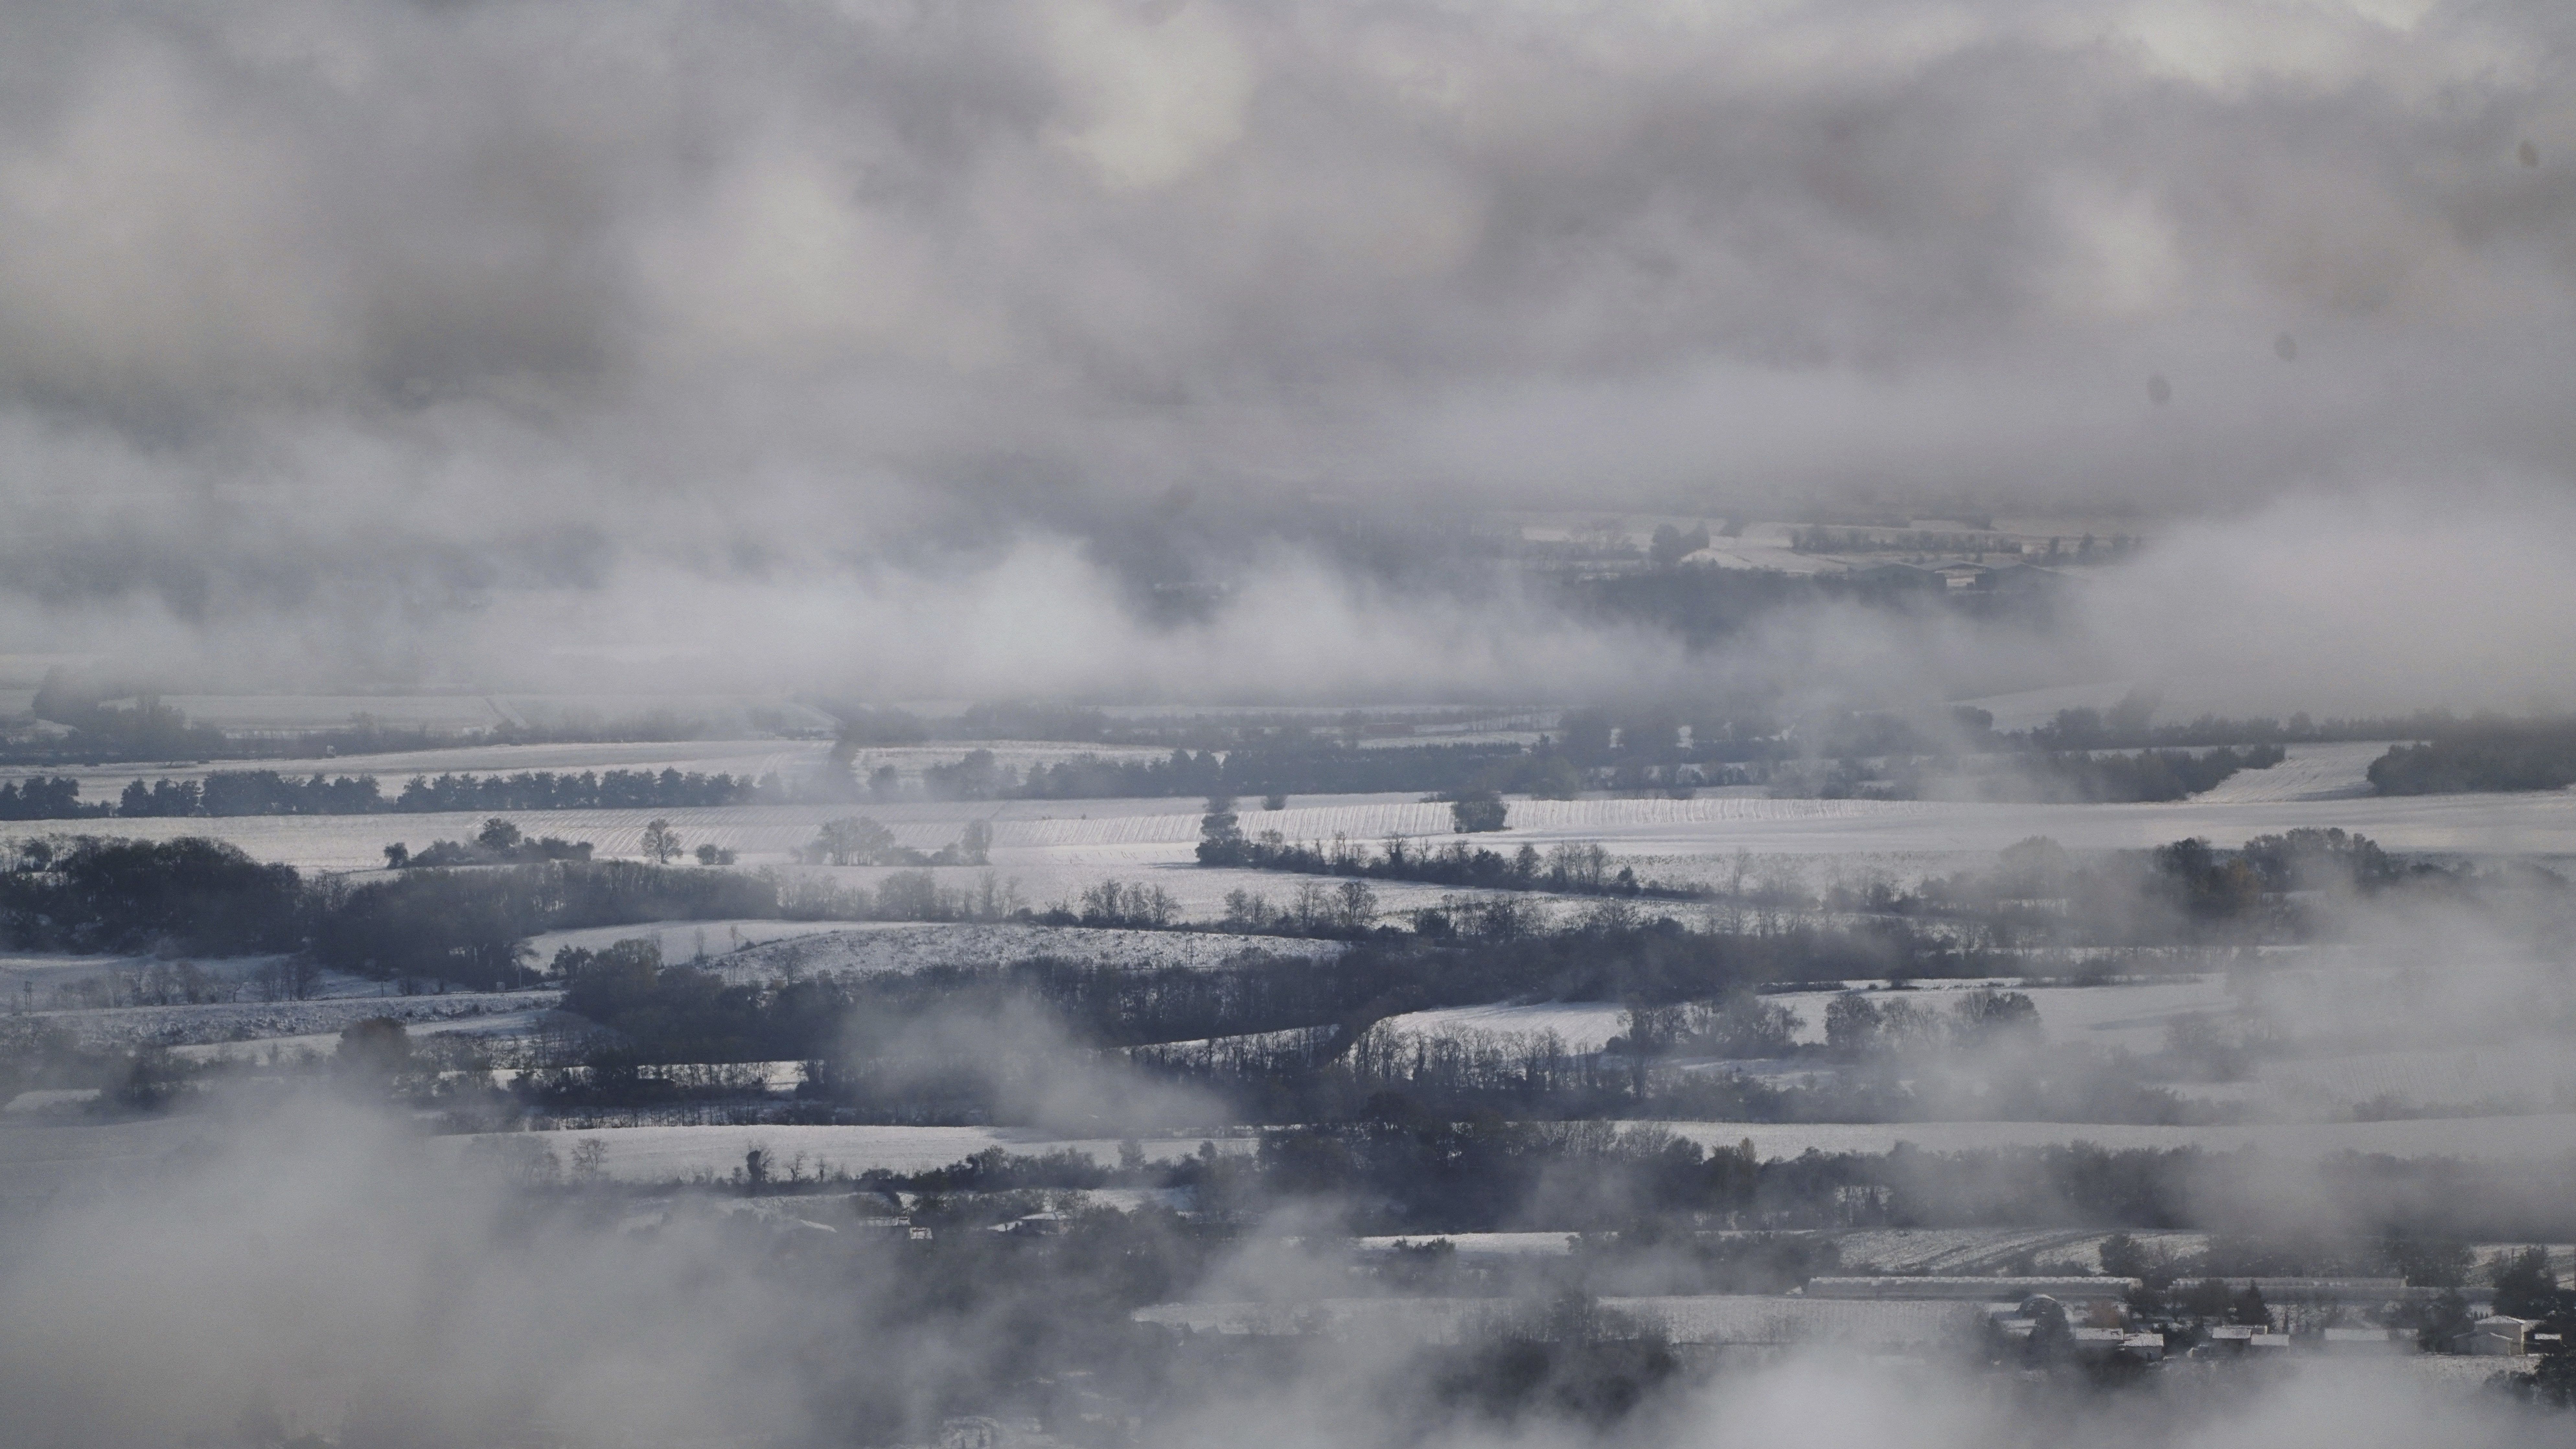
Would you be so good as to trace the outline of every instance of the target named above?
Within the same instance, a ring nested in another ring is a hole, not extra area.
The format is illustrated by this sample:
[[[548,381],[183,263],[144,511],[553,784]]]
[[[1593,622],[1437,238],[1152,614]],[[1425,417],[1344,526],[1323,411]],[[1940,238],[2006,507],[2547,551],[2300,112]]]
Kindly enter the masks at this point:
[[[1507,15],[21,13],[8,371],[111,413],[752,374],[1064,425],[2568,297],[2576,193],[2514,160],[2563,106],[2543,8],[2282,21],[2316,54],[2159,8]]]

